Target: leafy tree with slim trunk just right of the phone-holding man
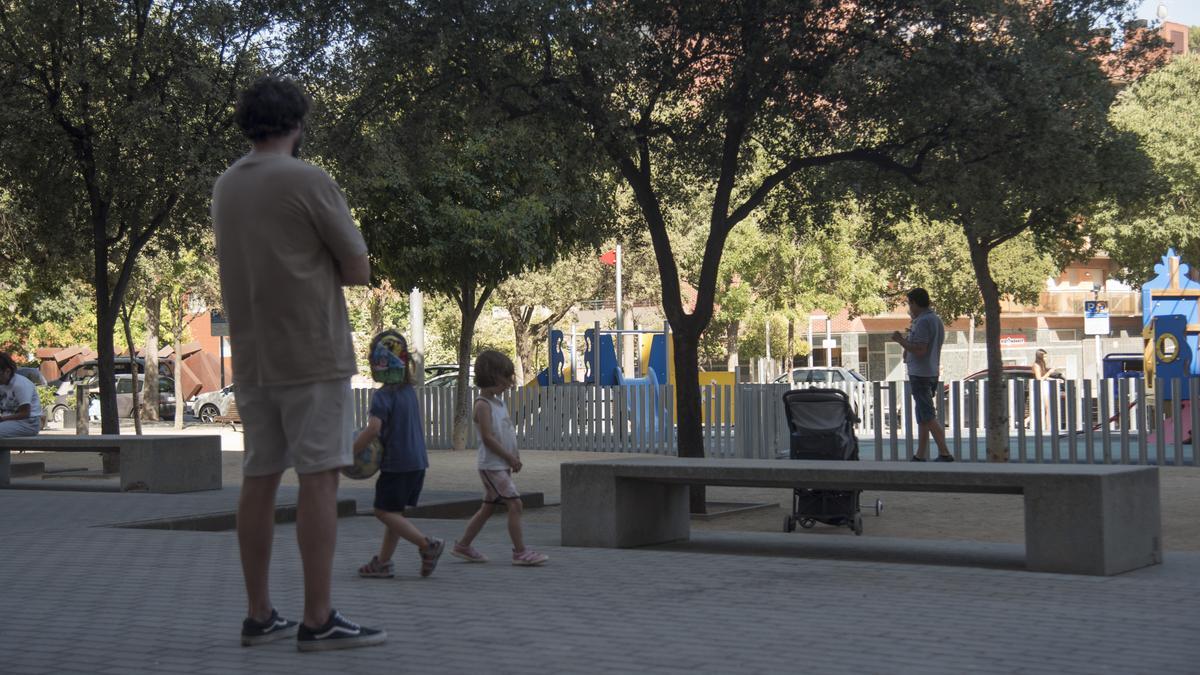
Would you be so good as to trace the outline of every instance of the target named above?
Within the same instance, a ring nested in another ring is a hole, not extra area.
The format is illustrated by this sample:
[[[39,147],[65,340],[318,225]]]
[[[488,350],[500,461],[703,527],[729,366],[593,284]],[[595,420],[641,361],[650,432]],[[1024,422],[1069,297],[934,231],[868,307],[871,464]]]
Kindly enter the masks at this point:
[[[1126,202],[1146,185],[1144,156],[1108,120],[1106,46],[1088,40],[1121,8],[1004,4],[943,46],[955,55],[938,86],[949,126],[914,193],[930,219],[956,222],[966,235],[984,305],[992,461],[1008,459],[994,252],[1028,233],[1039,250],[1069,256],[1082,249],[1103,199]]]

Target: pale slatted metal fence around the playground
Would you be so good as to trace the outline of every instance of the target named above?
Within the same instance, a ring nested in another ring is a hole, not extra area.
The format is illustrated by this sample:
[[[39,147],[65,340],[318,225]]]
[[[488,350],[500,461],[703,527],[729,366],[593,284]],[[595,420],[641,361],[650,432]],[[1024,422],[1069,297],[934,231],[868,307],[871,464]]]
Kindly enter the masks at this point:
[[[1200,378],[1175,380],[1174,394],[1147,396],[1136,378],[1007,383],[1012,461],[1196,465],[1190,430],[1200,408]],[[822,384],[830,387],[830,384]],[[906,460],[917,444],[907,382],[833,384],[845,390],[859,417],[863,459]],[[786,455],[788,430],[782,405],[786,384],[712,386],[701,389],[704,448],[716,458]],[[425,437],[431,448],[451,447],[455,389],[418,388]],[[1099,394],[1099,395],[1098,395]],[[356,419],[366,422],[371,389],[358,389]],[[472,398],[475,393],[472,392]],[[983,382],[943,387],[938,414],[952,453],[985,461]],[[518,388],[503,395],[522,448],[610,453],[678,454],[672,387],[556,386]],[[475,447],[469,425],[468,447]],[[932,441],[930,441],[932,448]]]

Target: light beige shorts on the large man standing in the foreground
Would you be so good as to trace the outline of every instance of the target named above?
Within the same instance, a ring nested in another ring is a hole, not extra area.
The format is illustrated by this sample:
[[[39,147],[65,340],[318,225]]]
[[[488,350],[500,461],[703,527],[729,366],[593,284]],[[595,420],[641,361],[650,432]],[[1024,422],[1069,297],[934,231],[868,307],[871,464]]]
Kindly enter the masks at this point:
[[[245,430],[244,476],[287,467],[316,473],[354,462],[350,378],[306,384],[234,388]]]

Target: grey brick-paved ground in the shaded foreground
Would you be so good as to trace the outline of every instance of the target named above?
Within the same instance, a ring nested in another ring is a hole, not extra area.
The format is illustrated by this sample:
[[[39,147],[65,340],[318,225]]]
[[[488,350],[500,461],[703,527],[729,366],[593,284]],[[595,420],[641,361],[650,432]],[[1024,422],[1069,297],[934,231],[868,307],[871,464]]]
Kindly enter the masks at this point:
[[[571,455],[527,455],[522,488],[556,496],[558,462]],[[469,453],[432,461],[431,489],[469,488]],[[1166,472],[1169,512],[1170,495],[1194,492],[1198,473]],[[1170,526],[1162,566],[1114,578],[1034,574],[1019,569],[1010,527],[995,525],[1019,502],[912,494],[884,495],[887,510],[868,519],[864,537],[784,534],[774,509],[697,522],[690,543],[637,550],[560,548],[557,509],[541,509],[528,539],[550,554],[545,568],[504,565],[496,520],[480,548],[500,562],[446,558],[430,579],[416,575],[410,550],[400,578],[358,579],[380,531],[371,518],[344,519],[337,607],[386,628],[390,641],[328,655],[244,649],[233,532],[108,526],[210,513],[234,496],[235,484],[193,495],[0,490],[0,671],[1093,674],[1196,673],[1200,663],[1200,552],[1172,548]],[[763,531],[752,531],[760,520]],[[979,537],[974,527],[989,521]],[[463,522],[420,526],[454,538]],[[984,543],[941,540],[967,536]],[[277,530],[272,579],[292,616],[301,601],[294,540],[293,527]]]

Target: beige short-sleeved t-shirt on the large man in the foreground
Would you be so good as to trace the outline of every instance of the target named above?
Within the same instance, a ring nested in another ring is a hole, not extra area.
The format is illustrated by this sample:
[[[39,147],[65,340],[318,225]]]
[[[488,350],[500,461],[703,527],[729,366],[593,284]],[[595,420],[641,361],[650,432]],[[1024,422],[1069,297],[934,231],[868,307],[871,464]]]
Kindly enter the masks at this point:
[[[212,225],[234,382],[354,375],[340,264],[367,245],[334,179],[288,155],[251,153],[217,179]]]

